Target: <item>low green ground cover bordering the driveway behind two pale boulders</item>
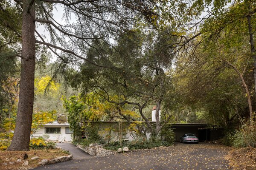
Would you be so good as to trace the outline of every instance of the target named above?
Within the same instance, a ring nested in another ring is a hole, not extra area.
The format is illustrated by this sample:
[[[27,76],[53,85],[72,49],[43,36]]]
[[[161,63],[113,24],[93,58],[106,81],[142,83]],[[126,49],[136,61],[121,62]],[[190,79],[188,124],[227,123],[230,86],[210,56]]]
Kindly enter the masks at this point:
[[[118,150],[118,148],[128,147],[129,150],[134,149],[150,149],[153,147],[160,147],[160,146],[171,146],[172,143],[169,143],[167,141],[161,141],[161,140],[155,140],[153,141],[131,141],[131,142],[123,142],[122,145],[120,145],[119,142],[111,142],[109,144],[106,144],[104,146],[104,149],[107,150]]]

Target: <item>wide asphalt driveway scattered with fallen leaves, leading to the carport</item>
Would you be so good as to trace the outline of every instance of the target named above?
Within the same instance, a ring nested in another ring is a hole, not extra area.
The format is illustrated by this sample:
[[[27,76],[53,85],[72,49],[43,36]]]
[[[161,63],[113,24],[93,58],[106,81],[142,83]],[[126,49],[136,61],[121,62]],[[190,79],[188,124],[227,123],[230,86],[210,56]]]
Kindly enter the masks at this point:
[[[180,144],[152,150],[89,157],[38,167],[35,170],[228,170],[229,147],[216,144]]]

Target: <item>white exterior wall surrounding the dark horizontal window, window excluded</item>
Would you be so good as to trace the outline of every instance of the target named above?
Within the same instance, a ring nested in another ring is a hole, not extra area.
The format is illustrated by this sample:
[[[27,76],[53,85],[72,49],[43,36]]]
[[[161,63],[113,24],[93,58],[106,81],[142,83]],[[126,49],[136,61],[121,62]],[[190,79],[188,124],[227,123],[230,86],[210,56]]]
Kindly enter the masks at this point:
[[[61,133],[45,133],[45,127],[61,127]],[[72,134],[66,133],[66,127],[69,125],[43,125],[33,134],[33,137],[49,135],[51,141],[72,141]]]

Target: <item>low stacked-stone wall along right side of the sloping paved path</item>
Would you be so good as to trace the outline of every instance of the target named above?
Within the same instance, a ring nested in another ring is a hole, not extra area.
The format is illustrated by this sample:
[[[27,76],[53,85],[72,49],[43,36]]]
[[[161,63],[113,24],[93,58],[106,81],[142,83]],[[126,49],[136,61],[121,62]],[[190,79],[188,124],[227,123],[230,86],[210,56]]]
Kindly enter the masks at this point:
[[[89,153],[91,156],[108,156],[117,154],[117,151],[104,149],[104,144],[89,144],[87,147],[77,144],[76,146],[81,150],[84,150],[84,152]]]

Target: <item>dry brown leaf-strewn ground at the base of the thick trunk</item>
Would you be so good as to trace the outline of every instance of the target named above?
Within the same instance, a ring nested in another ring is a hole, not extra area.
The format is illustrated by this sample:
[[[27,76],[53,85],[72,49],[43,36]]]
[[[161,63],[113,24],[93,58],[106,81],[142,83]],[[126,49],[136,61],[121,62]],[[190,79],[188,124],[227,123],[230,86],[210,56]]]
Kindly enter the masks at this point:
[[[18,163],[17,159],[21,159],[24,153],[29,156],[28,159],[23,160]],[[0,151],[0,170],[26,170],[38,166],[38,162],[42,159],[52,159],[58,156],[67,156],[68,154],[61,149],[44,149],[44,150],[30,150],[30,151]],[[31,160],[32,157],[39,156],[37,160]],[[22,166],[24,161],[29,161],[29,166]],[[14,164],[9,164],[9,162],[14,162]],[[4,165],[7,163],[8,165]]]

